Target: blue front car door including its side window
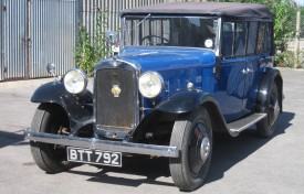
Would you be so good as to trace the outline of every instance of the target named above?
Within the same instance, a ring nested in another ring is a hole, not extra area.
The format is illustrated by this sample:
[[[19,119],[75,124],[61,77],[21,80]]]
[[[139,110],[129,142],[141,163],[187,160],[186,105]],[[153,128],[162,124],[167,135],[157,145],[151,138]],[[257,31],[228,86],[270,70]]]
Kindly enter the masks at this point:
[[[220,77],[216,97],[227,122],[244,116],[247,80],[245,23],[223,22]]]

